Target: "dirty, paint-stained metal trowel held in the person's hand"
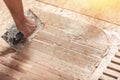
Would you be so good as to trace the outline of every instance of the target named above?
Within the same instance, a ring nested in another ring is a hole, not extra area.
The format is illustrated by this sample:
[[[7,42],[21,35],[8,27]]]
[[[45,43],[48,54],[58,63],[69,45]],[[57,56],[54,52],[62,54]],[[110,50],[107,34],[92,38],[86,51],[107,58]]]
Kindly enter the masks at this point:
[[[27,11],[26,16],[31,18],[37,26],[30,37],[24,39],[24,35],[21,32],[19,32],[15,24],[12,25],[12,27],[2,35],[2,38],[16,51],[19,51],[21,48],[24,48],[26,43],[31,41],[34,38],[35,34],[42,27],[41,21],[31,10]]]

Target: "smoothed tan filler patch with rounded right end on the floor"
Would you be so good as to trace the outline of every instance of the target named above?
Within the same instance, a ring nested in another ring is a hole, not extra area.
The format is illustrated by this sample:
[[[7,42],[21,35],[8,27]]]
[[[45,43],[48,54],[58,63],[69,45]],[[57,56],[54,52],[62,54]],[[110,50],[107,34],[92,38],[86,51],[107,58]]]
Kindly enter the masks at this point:
[[[38,5],[41,7],[37,8]],[[93,25],[64,17],[63,14],[65,13],[59,12],[59,15],[56,14],[54,10],[55,7],[53,7],[51,11],[51,9],[47,9],[47,7],[45,8],[44,6],[44,4],[37,4],[32,8],[32,11],[45,25],[36,35],[36,42],[34,41],[31,43],[30,47],[58,58],[59,60],[64,61],[64,64],[72,64],[71,70],[68,66],[63,68],[64,70],[69,69],[67,70],[67,73],[74,77],[82,79],[81,76],[91,75],[96,69],[96,64],[100,63],[99,60],[104,57],[104,54],[109,48],[109,41],[106,34]],[[95,36],[95,34],[97,36]],[[37,43],[37,41],[39,43]],[[63,65],[60,66],[62,67]],[[54,66],[56,69],[59,67],[56,65]],[[79,70],[74,66],[79,66]],[[74,71],[72,71],[72,69]],[[82,71],[87,72],[82,74]]]

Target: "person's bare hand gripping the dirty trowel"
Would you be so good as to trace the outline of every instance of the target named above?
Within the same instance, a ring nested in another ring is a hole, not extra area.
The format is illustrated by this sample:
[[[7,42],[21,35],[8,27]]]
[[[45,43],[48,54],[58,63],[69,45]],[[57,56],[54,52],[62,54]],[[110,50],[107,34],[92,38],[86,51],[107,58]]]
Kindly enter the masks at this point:
[[[23,33],[24,38],[27,38],[34,32],[36,25],[30,18],[25,17],[23,22],[17,24],[17,28],[21,33]]]

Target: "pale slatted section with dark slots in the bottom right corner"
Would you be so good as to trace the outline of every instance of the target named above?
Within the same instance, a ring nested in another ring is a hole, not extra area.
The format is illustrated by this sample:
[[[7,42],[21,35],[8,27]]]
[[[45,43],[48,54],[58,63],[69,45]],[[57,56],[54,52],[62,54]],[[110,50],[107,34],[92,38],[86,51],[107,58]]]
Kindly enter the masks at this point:
[[[99,78],[99,80],[119,80],[120,76],[120,64],[119,64],[119,46],[118,46],[118,52],[114,55],[111,62],[108,64],[108,66],[103,71],[102,76]]]

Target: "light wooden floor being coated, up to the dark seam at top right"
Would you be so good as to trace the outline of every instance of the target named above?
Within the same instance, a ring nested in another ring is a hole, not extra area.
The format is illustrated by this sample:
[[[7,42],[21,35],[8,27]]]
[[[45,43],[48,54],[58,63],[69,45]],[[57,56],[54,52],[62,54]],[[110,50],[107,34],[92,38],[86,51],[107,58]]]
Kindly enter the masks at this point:
[[[24,49],[16,52],[0,38],[0,80],[120,80],[119,23],[40,1],[23,0],[43,24]],[[1,36],[13,21],[0,4]]]

